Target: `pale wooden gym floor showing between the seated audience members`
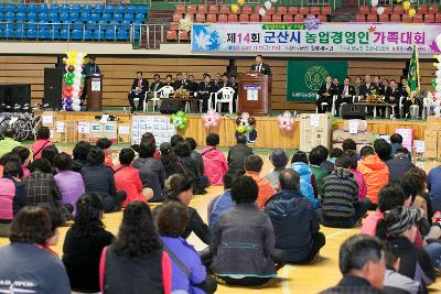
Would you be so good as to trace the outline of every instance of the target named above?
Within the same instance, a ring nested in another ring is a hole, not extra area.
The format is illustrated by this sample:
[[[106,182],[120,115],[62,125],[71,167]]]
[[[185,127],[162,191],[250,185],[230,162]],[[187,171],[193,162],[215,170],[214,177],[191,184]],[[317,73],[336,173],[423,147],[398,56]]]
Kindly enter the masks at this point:
[[[72,148],[61,148],[65,152],[71,152]],[[267,156],[268,152],[263,152],[262,159],[265,162],[262,174],[268,173],[271,170],[271,164]],[[431,168],[435,163],[426,163],[424,170]],[[209,187],[208,194],[197,195],[192,199],[191,206],[196,208],[200,215],[206,220],[206,208],[209,200],[216,195],[220,194],[222,187]],[[106,229],[117,235],[118,227],[120,225],[122,213],[106,214],[104,217],[104,222]],[[68,227],[61,228],[61,236],[58,244],[54,250],[61,255],[63,253],[63,241]],[[227,293],[256,293],[256,294],[309,294],[318,293],[329,286],[332,286],[338,282],[341,279],[341,273],[338,271],[338,248],[340,244],[348,237],[358,233],[359,228],[355,229],[334,229],[321,227],[321,230],[326,236],[326,244],[320,251],[320,258],[314,264],[310,265],[286,265],[278,272],[278,277],[269,282],[262,287],[245,288],[245,287],[229,287],[224,285],[218,285],[216,293],[227,294]],[[189,242],[193,244],[197,250],[202,250],[205,244],[197,239],[193,233],[189,238]],[[9,243],[6,238],[0,238],[0,246]],[[431,293],[441,293],[441,281],[432,285]]]

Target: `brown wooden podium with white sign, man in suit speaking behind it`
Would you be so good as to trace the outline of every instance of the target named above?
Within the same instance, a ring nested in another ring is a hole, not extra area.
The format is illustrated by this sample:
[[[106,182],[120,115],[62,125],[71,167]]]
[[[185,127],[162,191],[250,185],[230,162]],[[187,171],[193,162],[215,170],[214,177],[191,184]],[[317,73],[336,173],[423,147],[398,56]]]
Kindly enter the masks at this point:
[[[272,78],[270,76],[254,72],[240,74],[237,112],[267,116],[271,110],[271,84]]]

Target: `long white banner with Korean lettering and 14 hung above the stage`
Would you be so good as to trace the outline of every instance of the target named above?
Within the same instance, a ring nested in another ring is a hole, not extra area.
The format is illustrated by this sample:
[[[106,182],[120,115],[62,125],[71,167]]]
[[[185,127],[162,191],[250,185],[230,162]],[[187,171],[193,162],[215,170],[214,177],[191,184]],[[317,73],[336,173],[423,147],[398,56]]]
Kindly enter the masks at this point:
[[[195,23],[193,52],[438,53],[441,25],[423,23]]]

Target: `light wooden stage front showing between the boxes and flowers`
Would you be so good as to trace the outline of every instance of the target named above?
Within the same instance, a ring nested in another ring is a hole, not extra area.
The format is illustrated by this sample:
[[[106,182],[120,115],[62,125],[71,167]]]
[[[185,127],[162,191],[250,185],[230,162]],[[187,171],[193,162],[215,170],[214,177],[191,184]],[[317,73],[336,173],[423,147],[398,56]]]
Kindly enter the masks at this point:
[[[50,111],[51,112],[51,111]],[[41,113],[41,112],[40,112]],[[131,123],[133,116],[163,116],[159,112],[136,112],[133,115],[122,111],[54,111],[52,112],[54,120],[65,121],[97,121],[103,113],[115,116],[119,119],[119,122]],[[183,137],[192,137],[201,145],[205,144],[205,138],[211,132],[217,132],[220,137],[219,146],[232,146],[235,144],[235,131],[236,131],[236,115],[222,116],[220,122],[217,128],[207,130],[204,128],[201,115],[187,115],[189,123],[184,131],[180,131]],[[252,144],[254,148],[266,148],[266,149],[298,149],[300,146],[300,119],[294,119],[294,129],[291,132],[282,132],[278,127],[277,116],[267,117],[255,117],[258,138]],[[426,120],[370,120],[367,119],[368,130],[373,133],[378,134],[392,134],[396,129],[407,128],[413,130],[415,140],[424,140],[424,129],[428,127]],[[344,120],[340,118],[332,119],[333,130],[343,129]]]

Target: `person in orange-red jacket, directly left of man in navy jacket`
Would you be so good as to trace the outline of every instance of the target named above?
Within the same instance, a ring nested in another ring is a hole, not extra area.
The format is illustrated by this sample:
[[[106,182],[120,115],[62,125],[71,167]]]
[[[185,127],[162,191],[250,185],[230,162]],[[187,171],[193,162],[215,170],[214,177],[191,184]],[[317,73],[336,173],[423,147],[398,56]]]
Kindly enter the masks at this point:
[[[263,161],[259,155],[248,155],[245,159],[245,175],[251,177],[259,187],[257,196],[257,207],[259,209],[263,209],[265,203],[276,194],[276,189],[272,188],[268,179],[260,176]]]

